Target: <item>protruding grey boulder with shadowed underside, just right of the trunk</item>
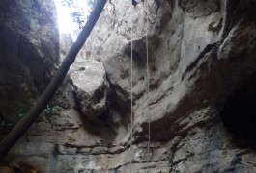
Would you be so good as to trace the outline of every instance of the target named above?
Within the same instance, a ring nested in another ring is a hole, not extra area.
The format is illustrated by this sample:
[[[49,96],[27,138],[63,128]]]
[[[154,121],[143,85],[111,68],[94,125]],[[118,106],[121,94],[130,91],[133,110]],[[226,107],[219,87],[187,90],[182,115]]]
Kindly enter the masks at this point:
[[[102,63],[77,62],[71,68],[71,80],[78,109],[88,119],[95,119],[106,111],[107,82]]]

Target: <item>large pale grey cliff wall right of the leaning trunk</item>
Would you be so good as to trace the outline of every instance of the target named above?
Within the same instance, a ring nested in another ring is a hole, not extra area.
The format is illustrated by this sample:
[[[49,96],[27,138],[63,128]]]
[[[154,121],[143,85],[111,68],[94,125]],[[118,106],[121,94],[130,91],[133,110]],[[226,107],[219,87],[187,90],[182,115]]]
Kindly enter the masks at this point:
[[[97,102],[105,112],[82,116],[93,113],[82,108],[94,94],[75,103],[67,85],[58,99],[69,106],[52,128],[43,116],[6,160],[42,172],[255,172],[255,2],[146,3],[108,3],[74,64],[77,97],[92,89],[79,77],[95,82],[86,65],[103,63],[109,89],[103,80],[94,87],[107,89]]]

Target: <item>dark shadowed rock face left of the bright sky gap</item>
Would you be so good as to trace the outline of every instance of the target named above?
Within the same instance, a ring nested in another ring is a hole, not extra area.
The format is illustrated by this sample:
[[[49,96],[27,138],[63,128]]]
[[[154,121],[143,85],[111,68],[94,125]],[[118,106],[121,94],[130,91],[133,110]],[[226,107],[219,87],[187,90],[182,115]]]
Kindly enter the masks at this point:
[[[55,71],[59,45],[54,8],[50,0],[1,2],[1,121],[14,123],[22,116]]]

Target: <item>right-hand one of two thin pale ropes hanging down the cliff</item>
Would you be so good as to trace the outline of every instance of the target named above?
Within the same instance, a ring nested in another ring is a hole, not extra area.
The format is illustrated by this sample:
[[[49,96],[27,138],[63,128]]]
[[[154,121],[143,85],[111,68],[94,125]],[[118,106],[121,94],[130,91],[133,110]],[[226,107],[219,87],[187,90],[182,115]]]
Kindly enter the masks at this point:
[[[149,29],[149,1],[146,2],[146,51],[147,51],[147,108],[149,107],[149,91],[150,91],[150,74],[149,74],[149,42],[148,42],[148,29]],[[148,159],[147,159],[147,172],[149,172],[149,160],[150,160],[150,143],[151,143],[151,131],[150,131],[150,119],[148,121]]]

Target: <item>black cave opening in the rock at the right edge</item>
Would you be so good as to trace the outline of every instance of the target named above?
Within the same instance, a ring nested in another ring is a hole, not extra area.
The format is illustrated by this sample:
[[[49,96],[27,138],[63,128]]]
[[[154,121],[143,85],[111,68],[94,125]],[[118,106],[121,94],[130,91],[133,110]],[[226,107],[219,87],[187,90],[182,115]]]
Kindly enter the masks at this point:
[[[225,101],[221,117],[229,132],[256,141],[256,78],[244,80]]]

